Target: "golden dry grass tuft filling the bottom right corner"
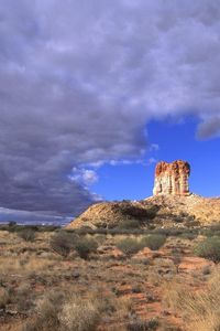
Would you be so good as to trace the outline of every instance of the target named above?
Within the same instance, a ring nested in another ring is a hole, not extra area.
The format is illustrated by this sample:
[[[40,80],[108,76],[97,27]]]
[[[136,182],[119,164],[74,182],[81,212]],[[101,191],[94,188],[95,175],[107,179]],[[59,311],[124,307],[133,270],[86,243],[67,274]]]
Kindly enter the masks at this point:
[[[211,276],[208,287],[191,291],[178,282],[166,284],[164,305],[183,316],[186,330],[220,330],[220,274],[219,268]]]

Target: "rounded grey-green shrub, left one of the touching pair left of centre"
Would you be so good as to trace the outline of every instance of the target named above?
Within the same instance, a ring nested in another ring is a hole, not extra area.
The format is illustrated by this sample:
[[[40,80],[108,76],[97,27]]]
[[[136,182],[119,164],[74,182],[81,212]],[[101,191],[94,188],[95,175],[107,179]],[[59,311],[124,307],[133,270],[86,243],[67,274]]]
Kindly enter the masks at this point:
[[[63,257],[67,257],[73,248],[75,248],[78,236],[73,233],[61,231],[55,234],[51,242],[51,248]]]

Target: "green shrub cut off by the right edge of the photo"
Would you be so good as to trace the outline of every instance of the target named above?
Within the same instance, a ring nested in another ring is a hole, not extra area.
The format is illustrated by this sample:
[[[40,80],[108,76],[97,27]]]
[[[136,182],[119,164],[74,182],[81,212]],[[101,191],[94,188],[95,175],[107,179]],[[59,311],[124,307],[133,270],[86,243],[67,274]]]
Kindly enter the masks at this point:
[[[199,243],[194,253],[197,256],[209,258],[215,263],[220,261],[220,238],[208,237],[204,242]]]

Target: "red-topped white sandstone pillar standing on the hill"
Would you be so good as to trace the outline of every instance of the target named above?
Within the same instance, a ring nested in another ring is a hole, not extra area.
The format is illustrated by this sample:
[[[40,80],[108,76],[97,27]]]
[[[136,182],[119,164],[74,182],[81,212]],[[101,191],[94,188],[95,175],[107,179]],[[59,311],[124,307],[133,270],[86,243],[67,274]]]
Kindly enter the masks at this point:
[[[154,195],[188,195],[190,166],[177,160],[173,163],[160,162],[155,170]]]

